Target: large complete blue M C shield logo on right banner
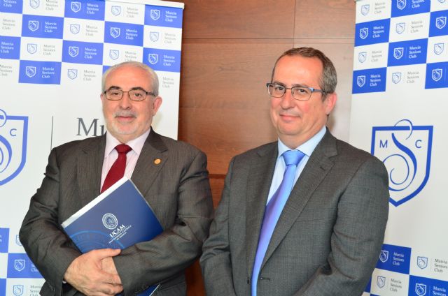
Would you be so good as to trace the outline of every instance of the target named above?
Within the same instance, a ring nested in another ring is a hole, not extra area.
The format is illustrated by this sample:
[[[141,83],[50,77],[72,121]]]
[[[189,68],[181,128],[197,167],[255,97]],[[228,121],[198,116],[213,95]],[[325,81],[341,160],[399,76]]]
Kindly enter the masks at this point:
[[[386,165],[389,202],[398,207],[428,182],[433,126],[413,126],[408,119],[372,128],[372,154]]]

